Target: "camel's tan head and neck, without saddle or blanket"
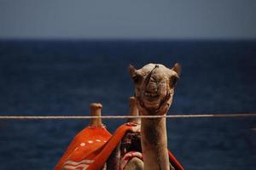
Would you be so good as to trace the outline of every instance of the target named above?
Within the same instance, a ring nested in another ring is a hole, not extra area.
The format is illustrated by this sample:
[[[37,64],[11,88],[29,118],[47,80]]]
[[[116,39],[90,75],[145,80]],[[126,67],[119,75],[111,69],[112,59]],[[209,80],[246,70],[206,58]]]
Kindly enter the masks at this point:
[[[137,70],[129,66],[135,84],[137,109],[142,116],[164,116],[172,105],[172,96],[181,67],[172,69],[165,65],[148,64]],[[143,167],[146,170],[169,170],[166,118],[143,118],[141,120],[141,144]],[[137,161],[135,161],[137,163]],[[131,162],[132,169],[135,162]]]

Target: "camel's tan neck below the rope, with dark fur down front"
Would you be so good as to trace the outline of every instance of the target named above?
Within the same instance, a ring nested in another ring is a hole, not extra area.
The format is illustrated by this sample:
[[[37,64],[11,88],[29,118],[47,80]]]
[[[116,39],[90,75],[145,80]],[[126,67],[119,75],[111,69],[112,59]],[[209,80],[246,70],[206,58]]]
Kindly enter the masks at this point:
[[[142,119],[143,161],[146,170],[169,170],[166,118]]]

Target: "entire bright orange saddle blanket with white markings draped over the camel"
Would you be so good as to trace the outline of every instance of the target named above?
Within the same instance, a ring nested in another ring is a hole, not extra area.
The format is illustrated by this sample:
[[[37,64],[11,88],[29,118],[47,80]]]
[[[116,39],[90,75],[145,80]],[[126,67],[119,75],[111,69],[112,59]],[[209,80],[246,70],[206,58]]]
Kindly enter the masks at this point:
[[[128,131],[137,131],[131,123],[121,125],[113,135],[105,127],[85,127],[79,132],[56,164],[55,170],[100,170]],[[169,159],[177,170],[181,164],[169,151]]]

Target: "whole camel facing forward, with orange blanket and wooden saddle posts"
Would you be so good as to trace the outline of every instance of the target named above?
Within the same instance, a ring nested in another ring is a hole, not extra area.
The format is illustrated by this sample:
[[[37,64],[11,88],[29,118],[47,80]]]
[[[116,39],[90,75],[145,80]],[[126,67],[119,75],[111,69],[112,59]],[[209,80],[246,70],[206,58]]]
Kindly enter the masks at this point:
[[[135,84],[135,96],[130,98],[130,115],[165,116],[172,105],[180,68],[178,64],[172,69],[160,64],[148,64],[137,70],[130,65],[131,79]],[[101,116],[101,108],[101,104],[91,104],[91,116]],[[173,165],[183,170],[183,167],[177,166],[178,162],[171,153],[168,156],[165,117],[128,119],[118,129],[123,129],[124,133],[111,136],[101,117],[91,118],[89,126],[76,135],[61,156],[55,170],[71,167],[86,169],[89,166],[89,169],[103,167],[103,170],[173,170],[169,156]],[[107,140],[107,145],[104,145]],[[88,152],[90,147],[95,149]]]

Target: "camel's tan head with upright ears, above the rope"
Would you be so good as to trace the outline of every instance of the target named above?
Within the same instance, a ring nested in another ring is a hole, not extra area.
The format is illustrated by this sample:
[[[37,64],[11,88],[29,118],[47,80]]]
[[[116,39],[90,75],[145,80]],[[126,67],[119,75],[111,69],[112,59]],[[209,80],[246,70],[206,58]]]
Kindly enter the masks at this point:
[[[137,107],[142,115],[164,115],[172,105],[172,95],[179,78],[181,67],[172,69],[165,65],[148,64],[141,69],[129,66],[135,84]]]

